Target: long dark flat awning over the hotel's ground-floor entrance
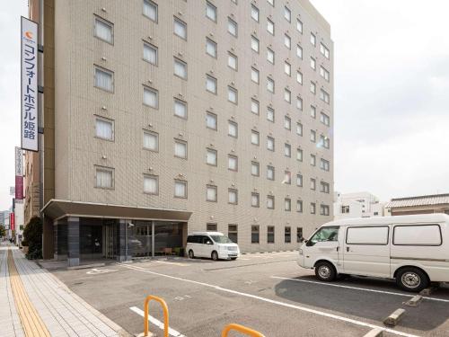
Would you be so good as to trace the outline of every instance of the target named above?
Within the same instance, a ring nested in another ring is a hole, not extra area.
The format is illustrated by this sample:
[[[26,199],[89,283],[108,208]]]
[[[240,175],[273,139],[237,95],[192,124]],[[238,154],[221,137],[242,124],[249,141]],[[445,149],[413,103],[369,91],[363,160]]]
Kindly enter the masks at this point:
[[[46,217],[108,217],[137,220],[188,221],[192,212],[166,208],[145,208],[94,202],[49,200],[41,209]]]

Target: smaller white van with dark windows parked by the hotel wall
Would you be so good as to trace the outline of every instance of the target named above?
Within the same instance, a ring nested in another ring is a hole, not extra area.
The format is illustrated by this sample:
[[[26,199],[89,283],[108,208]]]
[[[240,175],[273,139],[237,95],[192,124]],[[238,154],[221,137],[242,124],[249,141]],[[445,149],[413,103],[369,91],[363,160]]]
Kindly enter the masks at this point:
[[[189,258],[210,257],[235,260],[240,255],[238,244],[234,244],[229,237],[220,232],[198,232],[187,236],[186,252]]]

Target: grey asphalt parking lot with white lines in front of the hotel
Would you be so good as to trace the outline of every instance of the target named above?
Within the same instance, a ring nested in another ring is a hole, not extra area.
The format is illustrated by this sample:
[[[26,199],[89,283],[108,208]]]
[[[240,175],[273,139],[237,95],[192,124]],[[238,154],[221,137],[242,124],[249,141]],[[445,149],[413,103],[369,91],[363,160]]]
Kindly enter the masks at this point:
[[[131,334],[143,332],[144,299],[155,295],[169,307],[172,336],[220,336],[229,323],[267,337],[364,336],[375,327],[387,329],[384,336],[449,336],[449,287],[409,307],[403,302],[413,294],[392,281],[322,283],[297,266],[296,254],[247,254],[233,262],[169,258],[53,273]],[[406,310],[403,319],[387,328],[383,319],[398,308]],[[154,302],[150,315],[150,331],[163,335]]]

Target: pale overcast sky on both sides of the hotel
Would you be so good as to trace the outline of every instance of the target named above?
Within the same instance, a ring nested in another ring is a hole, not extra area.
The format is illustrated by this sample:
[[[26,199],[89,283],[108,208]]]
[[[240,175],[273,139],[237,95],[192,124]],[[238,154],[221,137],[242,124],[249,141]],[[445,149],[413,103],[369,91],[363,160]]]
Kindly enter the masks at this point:
[[[336,191],[381,200],[449,192],[449,2],[312,2],[335,43]],[[11,205],[20,144],[21,15],[27,0],[3,1],[0,209]]]

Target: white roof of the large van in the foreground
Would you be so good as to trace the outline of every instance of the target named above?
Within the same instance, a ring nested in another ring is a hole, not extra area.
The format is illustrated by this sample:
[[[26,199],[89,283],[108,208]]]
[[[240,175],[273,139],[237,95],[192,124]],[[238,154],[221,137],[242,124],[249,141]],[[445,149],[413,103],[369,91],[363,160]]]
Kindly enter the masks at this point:
[[[449,215],[444,213],[417,214],[410,216],[393,217],[351,217],[334,220],[323,224],[322,226],[345,226],[345,225],[389,225],[404,224],[413,225],[417,223],[449,223]]]

